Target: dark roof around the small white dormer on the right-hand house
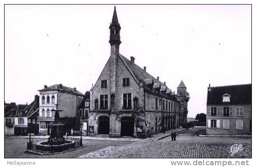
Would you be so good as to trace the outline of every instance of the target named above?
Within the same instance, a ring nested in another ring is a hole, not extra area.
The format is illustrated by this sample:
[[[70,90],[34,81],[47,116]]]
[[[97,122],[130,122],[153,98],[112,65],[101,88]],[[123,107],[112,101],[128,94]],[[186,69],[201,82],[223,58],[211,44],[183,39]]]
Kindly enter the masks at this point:
[[[230,95],[230,102],[222,102],[224,94]],[[251,96],[251,84],[210,87],[207,104],[251,104]]]

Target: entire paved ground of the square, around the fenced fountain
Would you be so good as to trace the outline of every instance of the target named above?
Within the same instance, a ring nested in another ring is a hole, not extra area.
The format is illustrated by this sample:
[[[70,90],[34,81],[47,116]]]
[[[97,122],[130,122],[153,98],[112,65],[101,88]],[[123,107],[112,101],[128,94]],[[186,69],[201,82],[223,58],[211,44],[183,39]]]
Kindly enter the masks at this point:
[[[55,155],[24,153],[27,138],[5,138],[5,158],[64,158],[64,157],[129,157],[129,158],[246,158],[251,157],[251,138],[197,137],[202,128],[183,131],[177,141],[168,136],[151,142],[129,142],[84,139],[84,147]],[[170,132],[168,132],[170,133]],[[161,134],[162,135],[162,134]],[[42,139],[44,140],[44,139]],[[242,144],[241,151],[231,156],[230,147]]]

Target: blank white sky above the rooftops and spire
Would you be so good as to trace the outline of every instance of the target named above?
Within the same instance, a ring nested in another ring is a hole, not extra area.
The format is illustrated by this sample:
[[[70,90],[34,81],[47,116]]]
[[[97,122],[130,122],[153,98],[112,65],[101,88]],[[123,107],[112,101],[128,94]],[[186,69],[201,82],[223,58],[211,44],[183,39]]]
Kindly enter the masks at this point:
[[[5,103],[31,103],[43,85],[85,93],[110,57],[114,5],[5,5]],[[172,91],[188,117],[206,113],[207,87],[251,83],[251,5],[116,5],[120,54]]]

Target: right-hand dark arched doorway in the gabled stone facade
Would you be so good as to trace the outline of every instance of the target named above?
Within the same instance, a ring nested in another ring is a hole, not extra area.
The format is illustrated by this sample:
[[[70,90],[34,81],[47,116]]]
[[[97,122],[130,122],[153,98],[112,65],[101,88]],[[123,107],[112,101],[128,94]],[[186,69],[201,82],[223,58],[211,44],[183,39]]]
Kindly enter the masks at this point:
[[[122,117],[121,118],[121,136],[131,136],[134,133],[134,118]]]

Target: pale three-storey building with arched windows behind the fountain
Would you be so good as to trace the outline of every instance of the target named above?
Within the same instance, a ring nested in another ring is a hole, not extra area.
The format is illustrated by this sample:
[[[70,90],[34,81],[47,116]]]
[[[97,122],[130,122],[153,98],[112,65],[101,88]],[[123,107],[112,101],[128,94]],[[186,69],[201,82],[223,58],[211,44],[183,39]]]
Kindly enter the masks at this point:
[[[58,109],[63,110],[60,112],[60,118],[76,118],[78,107],[84,98],[84,94],[76,90],[76,88],[69,88],[62,84],[55,84],[50,87],[45,85],[44,89],[39,90],[39,133],[49,134],[50,129],[48,125],[54,121],[54,112],[56,104],[60,104]]]

